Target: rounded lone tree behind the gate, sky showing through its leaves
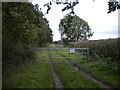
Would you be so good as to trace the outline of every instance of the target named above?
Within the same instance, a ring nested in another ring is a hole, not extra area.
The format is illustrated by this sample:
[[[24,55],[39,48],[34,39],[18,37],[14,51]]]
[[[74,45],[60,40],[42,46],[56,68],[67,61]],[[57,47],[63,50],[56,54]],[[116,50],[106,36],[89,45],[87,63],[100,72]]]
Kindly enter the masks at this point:
[[[70,14],[61,19],[59,31],[63,42],[66,44],[68,42],[87,40],[93,35],[90,26],[85,20],[77,15],[71,16]]]

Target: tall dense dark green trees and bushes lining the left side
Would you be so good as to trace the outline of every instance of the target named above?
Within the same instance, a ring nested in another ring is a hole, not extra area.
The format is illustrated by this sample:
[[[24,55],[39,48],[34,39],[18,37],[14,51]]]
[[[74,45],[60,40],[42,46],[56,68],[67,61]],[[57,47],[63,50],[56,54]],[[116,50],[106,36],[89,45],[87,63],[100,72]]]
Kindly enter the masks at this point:
[[[33,58],[32,47],[52,41],[48,21],[38,6],[25,2],[2,3],[3,65],[17,65]],[[8,64],[9,63],[9,64]]]

